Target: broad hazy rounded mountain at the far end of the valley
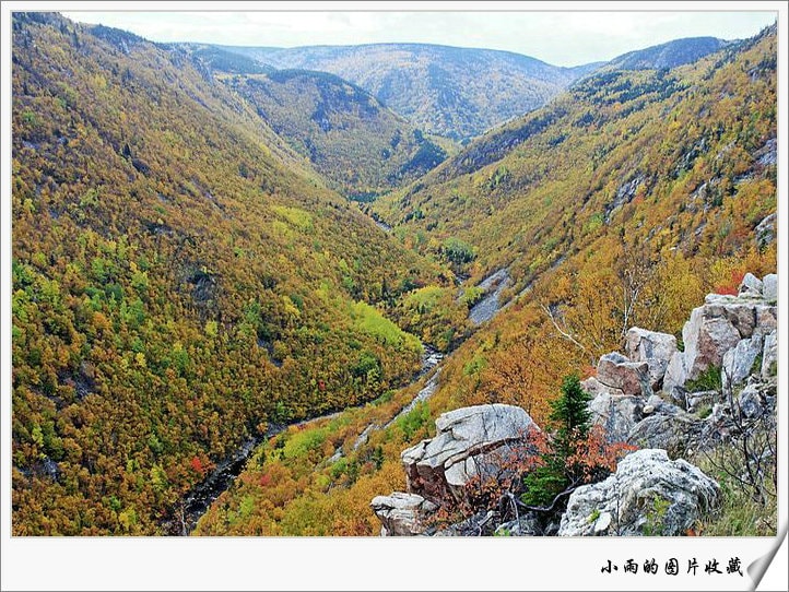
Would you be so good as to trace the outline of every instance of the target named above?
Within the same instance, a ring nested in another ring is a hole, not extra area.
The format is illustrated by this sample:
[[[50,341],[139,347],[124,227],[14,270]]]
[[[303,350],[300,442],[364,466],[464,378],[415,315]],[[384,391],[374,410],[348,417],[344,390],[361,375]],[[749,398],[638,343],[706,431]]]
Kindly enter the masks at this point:
[[[588,71],[508,51],[424,44],[222,49],[274,68],[331,72],[414,126],[455,140],[542,106]]]

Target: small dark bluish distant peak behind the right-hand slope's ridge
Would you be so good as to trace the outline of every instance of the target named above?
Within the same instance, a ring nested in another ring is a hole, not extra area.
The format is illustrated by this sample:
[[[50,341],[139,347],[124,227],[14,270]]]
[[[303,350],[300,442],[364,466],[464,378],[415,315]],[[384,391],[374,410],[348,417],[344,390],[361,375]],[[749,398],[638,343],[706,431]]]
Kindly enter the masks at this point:
[[[730,45],[716,37],[688,37],[623,54],[605,64],[608,70],[659,70],[676,68]]]

